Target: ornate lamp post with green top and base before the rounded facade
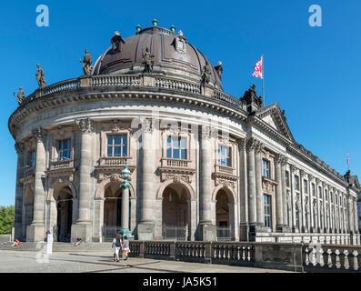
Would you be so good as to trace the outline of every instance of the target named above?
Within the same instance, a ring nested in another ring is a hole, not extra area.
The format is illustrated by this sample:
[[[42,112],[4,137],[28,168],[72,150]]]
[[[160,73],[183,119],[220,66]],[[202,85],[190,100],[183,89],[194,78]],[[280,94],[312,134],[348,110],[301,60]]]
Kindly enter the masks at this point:
[[[131,185],[128,182],[128,179],[131,176],[131,173],[128,169],[128,166],[125,165],[125,168],[120,175],[124,179],[124,182],[120,185],[122,188],[122,227],[119,230],[119,235],[128,238],[133,238],[132,232],[129,230],[129,188]]]

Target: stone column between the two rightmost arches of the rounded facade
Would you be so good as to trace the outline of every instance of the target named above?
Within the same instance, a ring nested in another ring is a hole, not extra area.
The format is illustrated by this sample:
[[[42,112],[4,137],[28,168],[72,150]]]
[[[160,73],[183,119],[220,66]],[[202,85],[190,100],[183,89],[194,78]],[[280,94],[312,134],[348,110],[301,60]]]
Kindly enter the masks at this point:
[[[211,130],[202,126],[199,165],[199,239],[203,241],[216,240],[216,226],[212,224],[212,146]]]

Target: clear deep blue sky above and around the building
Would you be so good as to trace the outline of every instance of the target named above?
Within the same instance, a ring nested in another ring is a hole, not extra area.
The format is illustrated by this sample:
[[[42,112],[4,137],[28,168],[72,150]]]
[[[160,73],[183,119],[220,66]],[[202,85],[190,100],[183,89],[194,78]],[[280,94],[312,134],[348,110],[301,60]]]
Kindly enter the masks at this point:
[[[37,5],[48,5],[50,26],[37,27]],[[308,7],[322,8],[322,26],[308,25]],[[15,141],[7,128],[17,103],[36,86],[36,64],[47,84],[82,75],[87,48],[95,60],[118,30],[175,25],[216,65],[225,91],[237,97],[261,81],[253,65],[265,55],[266,105],[286,110],[296,141],[345,174],[361,176],[361,2],[345,1],[4,1],[0,10],[0,206],[15,203]]]

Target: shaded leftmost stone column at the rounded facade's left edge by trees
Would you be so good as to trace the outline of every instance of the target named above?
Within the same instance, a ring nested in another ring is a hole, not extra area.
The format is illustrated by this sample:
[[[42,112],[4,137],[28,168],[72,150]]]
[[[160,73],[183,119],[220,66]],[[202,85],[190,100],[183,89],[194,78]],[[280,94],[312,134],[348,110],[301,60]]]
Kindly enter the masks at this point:
[[[23,237],[23,193],[24,185],[20,182],[20,179],[24,176],[25,169],[25,147],[24,144],[16,143],[15,150],[17,153],[17,167],[16,167],[16,189],[15,189],[15,237],[20,240],[24,240]]]

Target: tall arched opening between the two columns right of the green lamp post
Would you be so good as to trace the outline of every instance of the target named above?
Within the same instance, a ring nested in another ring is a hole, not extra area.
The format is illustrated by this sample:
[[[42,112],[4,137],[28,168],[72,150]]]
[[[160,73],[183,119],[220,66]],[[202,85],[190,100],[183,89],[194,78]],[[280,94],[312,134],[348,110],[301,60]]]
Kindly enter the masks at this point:
[[[189,194],[181,184],[165,187],[162,200],[163,239],[186,240],[188,236]]]

